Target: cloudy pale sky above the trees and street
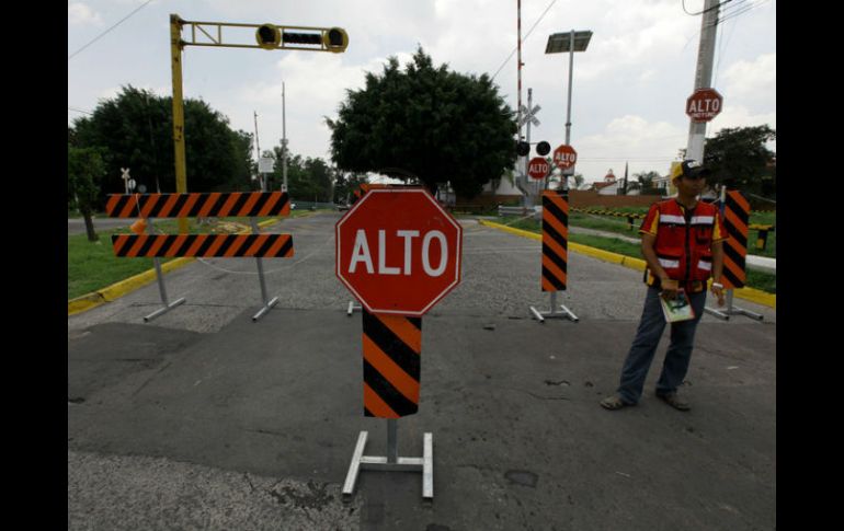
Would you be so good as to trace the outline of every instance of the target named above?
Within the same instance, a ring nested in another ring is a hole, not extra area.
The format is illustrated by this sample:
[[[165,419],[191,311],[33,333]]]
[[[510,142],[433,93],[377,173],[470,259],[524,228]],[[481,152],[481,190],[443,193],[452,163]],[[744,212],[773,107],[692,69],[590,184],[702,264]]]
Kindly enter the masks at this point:
[[[600,182],[665,175],[686,148],[686,99],[694,91],[704,0],[522,0],[522,104],[533,90],[540,109],[531,141],[564,143],[571,90],[577,173]],[[330,159],[331,132],[346,91],[380,73],[388,57],[403,66],[421,45],[434,65],[494,74],[512,109],[518,102],[516,0],[70,0],[68,125],[122,86],[172,94],[170,14],[185,21],[342,27],[343,54],[186,46],[185,99],[202,99],[233,129],[255,132],[262,151],[286,134],[293,153]],[[733,127],[776,129],[776,0],[722,0],[711,86],[723,96],[707,138]],[[545,54],[555,33],[592,31],[575,53]],[[229,33],[230,32],[230,33]],[[224,30],[224,42],[254,44],[253,33]],[[183,30],[183,38],[189,30]],[[510,58],[509,58],[510,57]],[[507,59],[509,58],[509,59]],[[185,131],[190,135],[190,131]],[[776,150],[776,143],[768,146]],[[536,155],[534,151],[532,157]]]

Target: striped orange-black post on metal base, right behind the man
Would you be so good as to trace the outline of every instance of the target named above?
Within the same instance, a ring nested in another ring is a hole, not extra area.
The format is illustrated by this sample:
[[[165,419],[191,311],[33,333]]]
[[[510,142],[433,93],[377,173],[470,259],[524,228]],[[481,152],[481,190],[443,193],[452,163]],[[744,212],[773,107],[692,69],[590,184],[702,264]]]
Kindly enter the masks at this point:
[[[745,315],[756,321],[764,318],[759,313],[733,308],[733,290],[743,288],[746,280],[746,258],[748,258],[748,228],[750,221],[750,203],[741,192],[737,189],[727,191],[721,188],[721,217],[723,218],[723,229],[729,236],[723,242],[723,270],[721,273],[721,284],[727,290],[727,309],[723,311],[706,307],[704,310],[716,318],[729,320],[730,315]]]

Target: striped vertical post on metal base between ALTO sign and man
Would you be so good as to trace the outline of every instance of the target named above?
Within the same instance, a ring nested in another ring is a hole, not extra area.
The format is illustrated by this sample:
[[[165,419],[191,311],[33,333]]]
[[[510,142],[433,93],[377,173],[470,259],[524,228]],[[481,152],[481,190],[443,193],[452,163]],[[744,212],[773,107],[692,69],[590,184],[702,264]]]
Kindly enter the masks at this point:
[[[546,319],[570,319],[579,321],[571,310],[563,304],[557,311],[557,291],[567,288],[569,261],[569,192],[544,191],[543,192],[543,274],[541,290],[549,291],[551,308],[547,312],[540,312],[531,307],[531,312],[540,322]]]

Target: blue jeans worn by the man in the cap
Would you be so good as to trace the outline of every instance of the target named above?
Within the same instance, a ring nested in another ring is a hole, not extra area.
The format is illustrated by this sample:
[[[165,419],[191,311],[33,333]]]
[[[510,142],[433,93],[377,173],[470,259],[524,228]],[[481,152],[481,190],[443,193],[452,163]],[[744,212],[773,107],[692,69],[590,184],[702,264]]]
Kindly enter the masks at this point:
[[[639,330],[636,332],[636,339],[634,339],[630,351],[627,353],[627,359],[621,369],[618,396],[627,404],[639,402],[645,386],[645,378],[648,376],[657,345],[659,345],[662,332],[665,330],[666,323],[659,297],[658,289],[648,288]],[[692,359],[695,330],[704,314],[706,290],[688,295],[688,300],[695,311],[695,319],[671,325],[671,344],[668,353],[665,353],[662,373],[657,382],[657,394],[675,392],[686,377],[688,361]]]

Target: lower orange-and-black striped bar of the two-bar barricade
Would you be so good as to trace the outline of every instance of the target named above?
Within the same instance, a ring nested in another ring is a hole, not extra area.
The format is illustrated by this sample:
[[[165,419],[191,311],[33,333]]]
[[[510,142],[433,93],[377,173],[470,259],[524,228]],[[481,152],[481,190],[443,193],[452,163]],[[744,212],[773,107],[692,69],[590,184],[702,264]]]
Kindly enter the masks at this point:
[[[115,256],[255,257],[294,255],[290,234],[113,234]]]

